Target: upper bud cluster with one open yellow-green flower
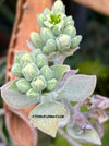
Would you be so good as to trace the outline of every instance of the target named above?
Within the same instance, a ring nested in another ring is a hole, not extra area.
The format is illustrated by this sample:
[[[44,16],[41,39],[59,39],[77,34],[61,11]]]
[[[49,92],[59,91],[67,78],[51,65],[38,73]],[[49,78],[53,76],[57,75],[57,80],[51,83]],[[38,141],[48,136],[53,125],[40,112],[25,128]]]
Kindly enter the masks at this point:
[[[82,36],[76,35],[76,28],[72,16],[65,15],[65,9],[61,0],[57,0],[50,11],[48,8],[44,13],[37,15],[40,34],[31,33],[32,44],[39,47],[44,53],[62,52],[76,48]]]

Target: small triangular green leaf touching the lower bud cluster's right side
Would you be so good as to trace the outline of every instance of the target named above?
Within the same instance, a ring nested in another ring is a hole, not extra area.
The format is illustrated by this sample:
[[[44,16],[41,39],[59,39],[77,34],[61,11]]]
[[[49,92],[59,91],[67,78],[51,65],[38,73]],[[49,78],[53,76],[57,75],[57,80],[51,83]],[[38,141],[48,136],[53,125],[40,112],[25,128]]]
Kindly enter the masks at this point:
[[[64,73],[69,70],[69,65],[52,65],[51,70],[53,72],[53,77],[60,81]]]

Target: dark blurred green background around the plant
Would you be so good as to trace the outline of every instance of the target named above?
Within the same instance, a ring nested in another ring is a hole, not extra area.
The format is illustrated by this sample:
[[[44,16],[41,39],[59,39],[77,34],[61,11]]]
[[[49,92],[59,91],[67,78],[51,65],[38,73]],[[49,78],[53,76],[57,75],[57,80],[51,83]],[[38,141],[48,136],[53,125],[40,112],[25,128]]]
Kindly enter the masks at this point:
[[[96,74],[97,87],[95,93],[109,97],[109,17],[77,3],[63,0],[66,14],[73,15],[77,34],[83,35],[81,49],[65,60],[71,69],[80,69],[81,74]],[[0,0],[0,86],[5,80],[7,53],[12,27],[15,19],[16,0]],[[0,108],[2,108],[0,98]],[[56,139],[40,133],[38,146],[70,146],[59,134]],[[109,123],[105,124],[102,146],[109,146]],[[12,146],[8,135],[4,117],[0,117],[0,144],[1,139]],[[44,143],[41,139],[44,137]],[[47,139],[49,143],[47,143]],[[84,146],[93,146],[86,144]]]

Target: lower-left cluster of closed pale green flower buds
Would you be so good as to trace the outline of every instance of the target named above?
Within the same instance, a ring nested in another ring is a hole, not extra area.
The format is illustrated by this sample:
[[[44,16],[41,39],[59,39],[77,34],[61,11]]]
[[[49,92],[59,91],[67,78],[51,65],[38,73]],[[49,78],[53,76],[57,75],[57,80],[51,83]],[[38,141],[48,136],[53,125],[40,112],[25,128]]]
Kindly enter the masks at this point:
[[[17,52],[12,73],[19,77],[15,82],[19,92],[28,97],[39,97],[44,92],[53,90],[57,85],[53,71],[40,49]]]

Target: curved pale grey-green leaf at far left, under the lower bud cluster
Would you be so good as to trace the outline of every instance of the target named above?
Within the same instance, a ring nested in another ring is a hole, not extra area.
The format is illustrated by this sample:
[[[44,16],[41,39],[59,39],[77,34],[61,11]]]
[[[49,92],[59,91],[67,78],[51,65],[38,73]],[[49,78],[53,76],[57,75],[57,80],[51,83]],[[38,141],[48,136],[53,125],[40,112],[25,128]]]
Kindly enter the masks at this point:
[[[11,81],[1,87],[1,97],[12,108],[23,109],[39,101],[39,98],[31,98],[21,94],[16,86],[16,81]]]

